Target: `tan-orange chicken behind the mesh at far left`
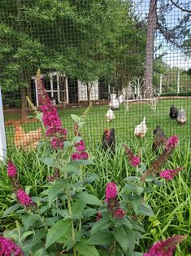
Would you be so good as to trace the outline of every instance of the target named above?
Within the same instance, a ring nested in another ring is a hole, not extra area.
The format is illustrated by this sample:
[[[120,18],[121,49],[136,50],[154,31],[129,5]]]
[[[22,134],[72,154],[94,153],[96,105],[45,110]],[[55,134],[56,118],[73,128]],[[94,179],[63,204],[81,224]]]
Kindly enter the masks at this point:
[[[15,148],[35,149],[41,139],[41,128],[25,133],[21,126],[15,127]]]

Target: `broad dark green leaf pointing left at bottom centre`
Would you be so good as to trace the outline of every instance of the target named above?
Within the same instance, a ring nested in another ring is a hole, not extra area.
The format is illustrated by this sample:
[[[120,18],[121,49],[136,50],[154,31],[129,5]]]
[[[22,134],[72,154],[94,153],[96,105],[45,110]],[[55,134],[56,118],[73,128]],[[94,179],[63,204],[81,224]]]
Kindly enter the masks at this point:
[[[86,242],[87,245],[108,245],[114,241],[114,236],[109,231],[98,231],[92,236],[89,237],[89,240]]]

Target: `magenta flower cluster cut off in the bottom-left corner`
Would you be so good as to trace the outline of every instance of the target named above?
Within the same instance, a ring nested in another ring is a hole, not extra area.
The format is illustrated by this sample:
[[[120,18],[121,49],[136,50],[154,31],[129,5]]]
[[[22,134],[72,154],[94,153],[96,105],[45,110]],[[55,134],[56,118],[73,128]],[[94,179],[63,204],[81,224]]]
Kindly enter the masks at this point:
[[[18,245],[5,237],[0,236],[0,256],[24,256]]]

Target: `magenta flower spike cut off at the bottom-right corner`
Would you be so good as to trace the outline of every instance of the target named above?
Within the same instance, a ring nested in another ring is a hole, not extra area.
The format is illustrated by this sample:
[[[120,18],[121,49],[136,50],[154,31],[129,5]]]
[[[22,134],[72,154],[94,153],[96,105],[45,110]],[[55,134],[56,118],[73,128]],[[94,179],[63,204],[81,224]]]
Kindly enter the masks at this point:
[[[156,242],[149,250],[148,253],[143,254],[143,256],[172,256],[176,244],[181,243],[185,240],[185,236],[172,236],[167,238],[165,241]]]

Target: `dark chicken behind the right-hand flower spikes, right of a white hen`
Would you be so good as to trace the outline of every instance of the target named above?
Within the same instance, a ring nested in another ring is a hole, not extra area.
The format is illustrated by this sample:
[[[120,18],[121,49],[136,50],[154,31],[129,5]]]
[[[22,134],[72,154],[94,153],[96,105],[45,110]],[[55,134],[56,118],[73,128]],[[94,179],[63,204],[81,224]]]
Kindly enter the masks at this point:
[[[165,143],[167,143],[167,136],[164,134],[163,130],[160,126],[157,126],[153,131],[154,142],[153,142],[153,150],[158,151],[160,147],[162,147]]]

